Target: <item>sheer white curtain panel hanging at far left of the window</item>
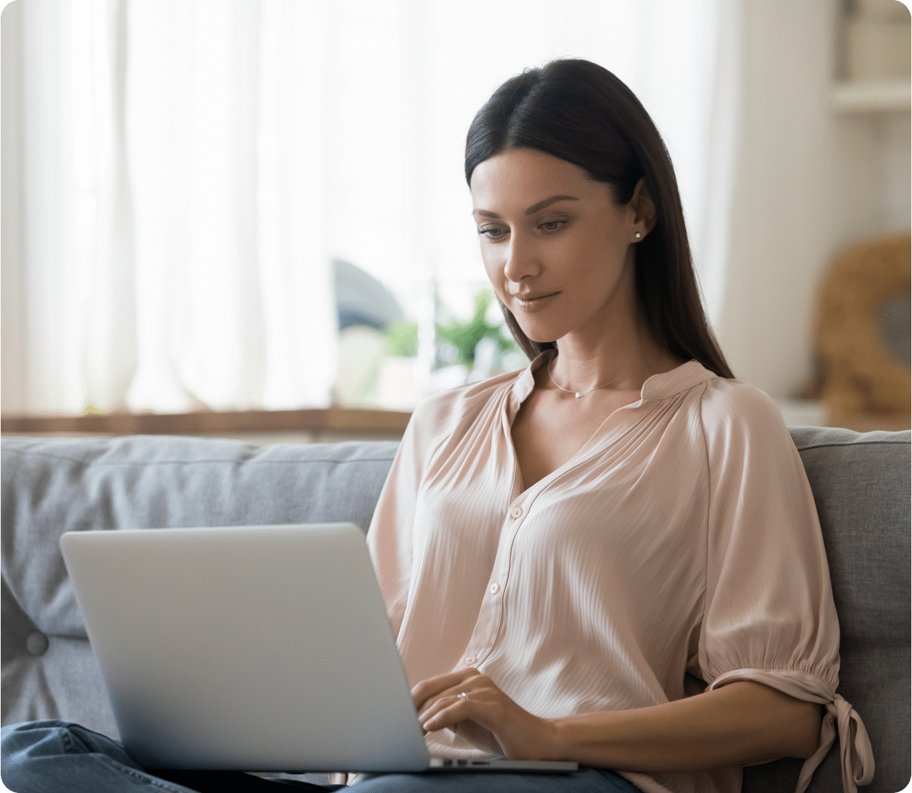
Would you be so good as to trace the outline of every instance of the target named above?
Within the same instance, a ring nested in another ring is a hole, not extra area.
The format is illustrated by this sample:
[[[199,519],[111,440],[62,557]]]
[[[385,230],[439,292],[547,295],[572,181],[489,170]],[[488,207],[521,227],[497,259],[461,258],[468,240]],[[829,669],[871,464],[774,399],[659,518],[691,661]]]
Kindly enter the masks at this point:
[[[21,92],[3,108],[18,99],[21,128],[3,164],[11,142],[23,305],[6,412],[329,403],[337,320],[316,10],[6,9],[5,66],[7,34],[21,37]]]

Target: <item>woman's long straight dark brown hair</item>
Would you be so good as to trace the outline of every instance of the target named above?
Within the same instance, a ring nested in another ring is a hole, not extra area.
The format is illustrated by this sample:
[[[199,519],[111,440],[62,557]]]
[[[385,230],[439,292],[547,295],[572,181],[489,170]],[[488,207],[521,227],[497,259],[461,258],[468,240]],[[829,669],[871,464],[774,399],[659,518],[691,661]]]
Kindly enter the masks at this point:
[[[668,149],[639,100],[606,68],[587,60],[554,60],[526,69],[492,94],[472,120],[465,179],[503,149],[537,149],[611,185],[626,204],[640,179],[656,205],[656,225],[637,243],[637,298],[649,330],[671,355],[733,377],[700,303],[678,181]],[[523,333],[503,304],[517,343],[530,358],[554,347]]]

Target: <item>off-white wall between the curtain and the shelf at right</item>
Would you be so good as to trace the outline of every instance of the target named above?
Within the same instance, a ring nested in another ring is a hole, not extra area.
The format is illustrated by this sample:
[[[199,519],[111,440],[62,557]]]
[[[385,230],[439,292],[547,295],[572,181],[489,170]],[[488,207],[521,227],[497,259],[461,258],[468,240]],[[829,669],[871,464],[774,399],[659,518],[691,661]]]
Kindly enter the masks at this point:
[[[731,258],[716,330],[772,397],[810,373],[817,283],[850,242],[909,228],[909,114],[831,108],[839,0],[743,0]]]

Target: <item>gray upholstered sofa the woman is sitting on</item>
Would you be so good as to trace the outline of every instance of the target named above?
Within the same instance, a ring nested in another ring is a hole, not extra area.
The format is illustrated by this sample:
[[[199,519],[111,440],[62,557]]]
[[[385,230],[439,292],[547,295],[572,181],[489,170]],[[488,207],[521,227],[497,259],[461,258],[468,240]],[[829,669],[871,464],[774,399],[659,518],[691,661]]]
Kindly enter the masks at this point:
[[[871,738],[867,791],[909,781],[908,432],[793,427],[814,489],[842,627],[840,692]],[[110,735],[109,710],[57,540],[64,531],[350,520],[367,530],[393,442],[171,437],[2,441],[3,724],[59,717]],[[814,793],[842,790],[838,747]],[[745,769],[791,793],[801,761]]]

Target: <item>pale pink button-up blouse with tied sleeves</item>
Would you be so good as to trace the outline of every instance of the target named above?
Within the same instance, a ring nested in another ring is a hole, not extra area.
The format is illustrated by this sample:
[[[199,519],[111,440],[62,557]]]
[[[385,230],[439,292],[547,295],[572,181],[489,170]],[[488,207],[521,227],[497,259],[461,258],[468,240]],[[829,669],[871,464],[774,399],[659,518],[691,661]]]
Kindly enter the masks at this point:
[[[762,391],[697,361],[648,378],[574,458],[522,490],[510,428],[521,372],[425,400],[368,547],[410,685],[475,666],[555,717],[754,680],[826,706],[807,787],[837,734],[845,793],[874,773],[836,694],[839,623],[814,498]],[[434,754],[490,755],[439,730]],[[647,793],[738,793],[741,768],[623,775]]]

